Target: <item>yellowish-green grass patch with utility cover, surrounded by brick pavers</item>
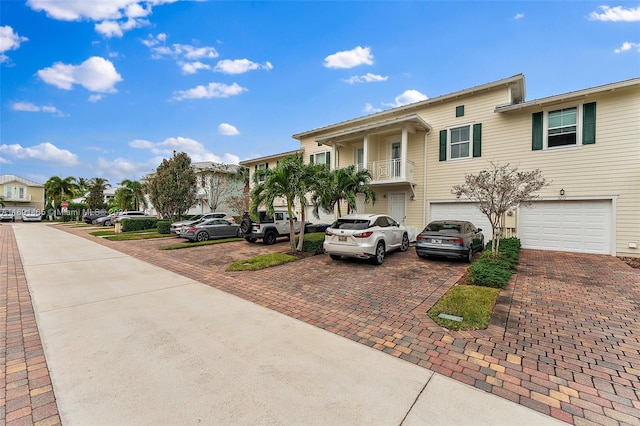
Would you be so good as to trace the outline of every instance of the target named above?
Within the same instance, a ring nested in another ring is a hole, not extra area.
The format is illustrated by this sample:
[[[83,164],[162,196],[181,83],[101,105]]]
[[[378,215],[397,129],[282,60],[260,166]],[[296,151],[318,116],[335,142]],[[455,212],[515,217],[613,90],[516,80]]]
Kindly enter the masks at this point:
[[[498,299],[497,288],[456,285],[429,310],[429,317],[449,330],[482,330],[489,326],[493,306]],[[439,314],[462,317],[461,322],[439,318]]]

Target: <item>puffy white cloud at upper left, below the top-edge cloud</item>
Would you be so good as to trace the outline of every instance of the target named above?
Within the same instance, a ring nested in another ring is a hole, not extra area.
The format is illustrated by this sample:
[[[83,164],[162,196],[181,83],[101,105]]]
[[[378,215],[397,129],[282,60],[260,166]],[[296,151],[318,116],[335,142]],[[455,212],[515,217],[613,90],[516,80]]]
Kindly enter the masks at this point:
[[[56,62],[49,68],[38,71],[38,76],[47,84],[71,90],[74,84],[92,92],[113,93],[114,85],[122,81],[111,61],[93,56],[80,65]]]

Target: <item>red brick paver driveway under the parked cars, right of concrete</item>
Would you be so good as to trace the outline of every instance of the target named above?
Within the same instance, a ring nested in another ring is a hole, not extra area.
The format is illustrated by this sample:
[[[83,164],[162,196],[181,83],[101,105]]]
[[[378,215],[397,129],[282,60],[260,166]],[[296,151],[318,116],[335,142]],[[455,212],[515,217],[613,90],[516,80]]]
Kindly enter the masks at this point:
[[[63,229],[88,237],[85,229]],[[422,260],[411,248],[380,267],[315,256],[226,272],[234,258],[288,244],[157,250],[173,242],[101,240],[568,423],[640,425],[640,270],[615,257],[522,250],[489,329],[449,332],[426,313],[464,263]]]

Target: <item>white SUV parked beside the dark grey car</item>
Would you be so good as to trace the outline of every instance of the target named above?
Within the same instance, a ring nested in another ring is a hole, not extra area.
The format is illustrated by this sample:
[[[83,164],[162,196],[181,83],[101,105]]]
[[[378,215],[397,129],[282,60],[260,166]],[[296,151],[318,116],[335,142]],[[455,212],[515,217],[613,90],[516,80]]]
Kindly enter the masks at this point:
[[[355,257],[381,265],[388,252],[409,249],[409,234],[391,216],[350,214],[327,228],[323,247],[333,260]]]

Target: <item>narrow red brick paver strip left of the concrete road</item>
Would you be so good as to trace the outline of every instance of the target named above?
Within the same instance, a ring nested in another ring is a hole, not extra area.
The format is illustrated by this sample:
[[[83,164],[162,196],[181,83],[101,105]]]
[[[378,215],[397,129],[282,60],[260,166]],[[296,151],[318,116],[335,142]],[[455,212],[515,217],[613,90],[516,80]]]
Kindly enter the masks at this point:
[[[0,338],[2,424],[61,424],[11,225],[0,226]]]

